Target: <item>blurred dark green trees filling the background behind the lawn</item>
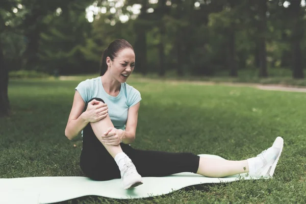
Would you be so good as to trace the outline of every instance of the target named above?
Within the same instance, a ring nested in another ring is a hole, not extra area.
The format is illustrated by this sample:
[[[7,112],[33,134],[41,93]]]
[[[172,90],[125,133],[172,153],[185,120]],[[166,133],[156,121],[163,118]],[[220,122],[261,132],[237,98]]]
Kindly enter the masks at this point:
[[[304,0],[2,0],[0,115],[8,74],[98,73],[107,45],[124,38],[135,72],[239,77],[288,69],[303,79]],[[225,73],[225,74],[224,74]]]

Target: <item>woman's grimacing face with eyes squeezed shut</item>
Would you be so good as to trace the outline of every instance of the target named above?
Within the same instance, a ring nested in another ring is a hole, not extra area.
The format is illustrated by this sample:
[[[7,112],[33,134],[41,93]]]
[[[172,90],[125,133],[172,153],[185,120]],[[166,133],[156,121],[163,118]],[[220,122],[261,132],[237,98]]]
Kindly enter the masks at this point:
[[[134,70],[135,53],[133,49],[125,48],[117,53],[117,57],[113,61],[107,57],[106,62],[114,79],[124,83]]]

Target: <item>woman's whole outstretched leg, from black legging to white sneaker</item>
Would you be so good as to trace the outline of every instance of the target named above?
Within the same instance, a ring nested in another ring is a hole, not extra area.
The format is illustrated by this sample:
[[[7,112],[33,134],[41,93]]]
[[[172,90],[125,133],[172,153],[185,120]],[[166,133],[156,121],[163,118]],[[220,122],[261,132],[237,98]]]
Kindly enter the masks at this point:
[[[283,149],[283,139],[277,137],[272,147],[260,155],[242,161],[211,159],[184,153],[138,150],[124,147],[142,176],[166,176],[180,172],[193,172],[208,177],[224,177],[239,173],[251,176],[272,175]]]

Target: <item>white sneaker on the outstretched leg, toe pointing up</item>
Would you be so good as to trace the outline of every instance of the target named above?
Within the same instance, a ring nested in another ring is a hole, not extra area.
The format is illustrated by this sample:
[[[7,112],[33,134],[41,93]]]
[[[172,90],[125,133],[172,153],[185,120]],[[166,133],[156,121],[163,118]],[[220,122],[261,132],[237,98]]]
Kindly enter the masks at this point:
[[[262,151],[261,154],[257,156],[260,157],[260,159],[262,160],[263,166],[258,168],[256,172],[254,172],[254,176],[269,177],[274,174],[276,164],[282,154],[283,146],[283,138],[277,137],[270,148]]]

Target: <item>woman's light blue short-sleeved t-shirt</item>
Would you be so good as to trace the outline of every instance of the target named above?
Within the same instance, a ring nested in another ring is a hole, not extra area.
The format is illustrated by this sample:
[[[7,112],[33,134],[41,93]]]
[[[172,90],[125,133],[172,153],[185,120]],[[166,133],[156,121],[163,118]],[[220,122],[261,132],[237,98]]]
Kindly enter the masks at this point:
[[[75,90],[79,91],[86,104],[94,97],[103,99],[115,128],[121,130],[125,130],[129,108],[141,100],[140,92],[126,83],[121,83],[120,92],[116,97],[109,95],[103,87],[101,77],[85,80]]]

